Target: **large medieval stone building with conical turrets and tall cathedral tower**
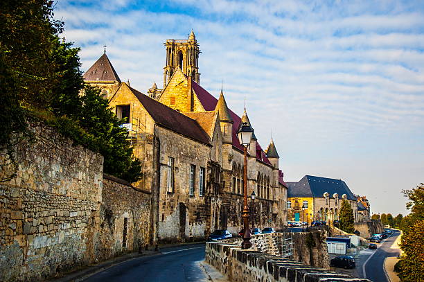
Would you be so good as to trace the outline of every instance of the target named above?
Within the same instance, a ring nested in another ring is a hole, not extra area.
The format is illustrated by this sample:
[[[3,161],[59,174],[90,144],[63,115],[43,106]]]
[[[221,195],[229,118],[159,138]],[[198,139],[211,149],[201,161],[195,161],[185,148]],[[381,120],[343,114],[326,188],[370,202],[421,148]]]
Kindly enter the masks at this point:
[[[143,161],[143,178],[135,185],[152,193],[157,239],[195,240],[214,229],[237,233],[243,150],[236,132],[242,121],[251,124],[247,111],[240,118],[222,91],[217,99],[200,86],[193,31],[188,40],[168,39],[165,46],[164,89],[154,83],[145,95],[121,82],[106,54],[85,73],[85,81],[105,89],[118,118],[126,118],[135,155]],[[248,193],[256,193],[255,224],[282,228],[287,186],[274,141],[265,151],[254,136],[247,171]]]

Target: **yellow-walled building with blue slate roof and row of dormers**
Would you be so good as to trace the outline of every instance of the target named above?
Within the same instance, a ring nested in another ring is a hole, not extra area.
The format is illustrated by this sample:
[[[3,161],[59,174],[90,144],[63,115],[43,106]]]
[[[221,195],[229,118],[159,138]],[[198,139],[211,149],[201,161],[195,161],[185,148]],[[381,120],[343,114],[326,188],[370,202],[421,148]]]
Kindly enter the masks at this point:
[[[333,224],[339,220],[339,210],[346,199],[357,222],[357,199],[341,179],[305,175],[299,182],[287,182],[287,185],[288,220]]]

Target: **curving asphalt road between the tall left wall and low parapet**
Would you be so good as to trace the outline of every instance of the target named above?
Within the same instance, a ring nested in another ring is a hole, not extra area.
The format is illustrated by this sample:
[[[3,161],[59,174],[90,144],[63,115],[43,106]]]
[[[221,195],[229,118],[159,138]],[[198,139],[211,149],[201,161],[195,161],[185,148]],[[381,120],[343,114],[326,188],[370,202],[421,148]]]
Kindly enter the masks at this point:
[[[82,281],[208,281],[199,265],[204,260],[204,244],[170,247],[161,252],[114,265]]]

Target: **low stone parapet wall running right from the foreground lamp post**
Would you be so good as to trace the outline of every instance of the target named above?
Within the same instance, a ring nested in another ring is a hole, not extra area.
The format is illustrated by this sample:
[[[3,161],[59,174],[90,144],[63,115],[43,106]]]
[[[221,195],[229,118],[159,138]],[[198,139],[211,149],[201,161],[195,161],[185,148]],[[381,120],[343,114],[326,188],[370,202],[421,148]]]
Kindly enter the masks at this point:
[[[271,236],[271,234],[267,234]],[[336,274],[322,268],[314,268],[288,258],[265,254],[255,250],[242,250],[240,245],[229,243],[206,243],[206,261],[227,276],[229,281],[369,281]]]

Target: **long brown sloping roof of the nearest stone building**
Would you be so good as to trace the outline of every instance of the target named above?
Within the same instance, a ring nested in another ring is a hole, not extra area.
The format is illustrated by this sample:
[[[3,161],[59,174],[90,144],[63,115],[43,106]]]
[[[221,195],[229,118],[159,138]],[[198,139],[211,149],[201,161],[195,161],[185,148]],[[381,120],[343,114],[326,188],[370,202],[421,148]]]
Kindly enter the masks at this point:
[[[175,111],[175,109],[171,109],[159,103],[157,100],[142,94],[132,87],[128,86],[128,88],[132,91],[134,96],[139,99],[140,103],[148,111],[150,116],[152,116],[155,123],[202,143],[211,144],[209,142],[209,135],[204,132],[202,126],[193,118],[189,118]]]

